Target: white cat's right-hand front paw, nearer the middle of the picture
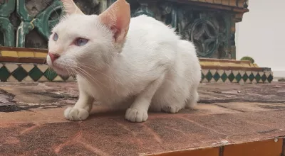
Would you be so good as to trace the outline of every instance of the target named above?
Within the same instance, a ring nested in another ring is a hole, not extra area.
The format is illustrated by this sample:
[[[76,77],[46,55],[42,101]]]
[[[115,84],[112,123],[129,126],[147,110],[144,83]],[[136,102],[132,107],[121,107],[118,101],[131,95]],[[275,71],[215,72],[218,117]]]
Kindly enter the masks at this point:
[[[144,122],[147,121],[147,111],[138,110],[136,108],[128,108],[125,112],[125,119],[131,122]]]

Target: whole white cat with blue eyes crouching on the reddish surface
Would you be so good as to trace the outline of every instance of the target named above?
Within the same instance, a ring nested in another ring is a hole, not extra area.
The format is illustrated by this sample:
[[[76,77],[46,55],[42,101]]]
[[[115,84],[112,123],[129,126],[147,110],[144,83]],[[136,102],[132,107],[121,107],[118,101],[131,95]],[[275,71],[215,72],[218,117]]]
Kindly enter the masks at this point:
[[[88,118],[95,100],[125,106],[125,118],[147,120],[147,111],[177,113],[197,104],[201,67],[195,46],[147,16],[130,18],[118,0],[97,15],[84,15],[62,0],[67,15],[52,30],[47,62],[58,74],[76,74],[79,99],[64,116]]]

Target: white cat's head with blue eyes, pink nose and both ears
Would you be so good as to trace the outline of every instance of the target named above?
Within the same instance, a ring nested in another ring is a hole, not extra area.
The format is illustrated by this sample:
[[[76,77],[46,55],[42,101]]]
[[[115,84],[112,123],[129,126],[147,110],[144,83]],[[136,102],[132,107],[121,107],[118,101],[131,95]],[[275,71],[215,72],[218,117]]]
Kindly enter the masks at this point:
[[[48,40],[47,63],[58,74],[100,71],[122,51],[130,24],[130,6],[118,0],[106,11],[85,15],[73,0],[61,0],[66,16]]]

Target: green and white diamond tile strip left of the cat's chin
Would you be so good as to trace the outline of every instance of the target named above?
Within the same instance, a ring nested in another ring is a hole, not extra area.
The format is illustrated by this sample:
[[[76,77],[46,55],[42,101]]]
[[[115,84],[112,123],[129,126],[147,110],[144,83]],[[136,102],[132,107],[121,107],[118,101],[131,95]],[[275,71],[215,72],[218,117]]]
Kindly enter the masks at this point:
[[[71,82],[74,77],[61,77],[48,65],[0,63],[0,82]]]

